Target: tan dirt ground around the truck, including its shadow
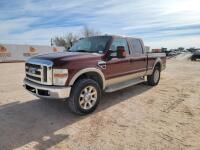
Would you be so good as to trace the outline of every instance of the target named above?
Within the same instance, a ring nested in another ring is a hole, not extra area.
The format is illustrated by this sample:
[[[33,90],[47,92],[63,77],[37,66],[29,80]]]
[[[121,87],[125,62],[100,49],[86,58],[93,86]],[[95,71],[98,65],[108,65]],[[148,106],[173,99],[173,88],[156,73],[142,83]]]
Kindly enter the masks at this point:
[[[0,64],[0,149],[200,149],[200,62],[171,59],[160,84],[106,94],[76,116],[22,88],[24,64]]]

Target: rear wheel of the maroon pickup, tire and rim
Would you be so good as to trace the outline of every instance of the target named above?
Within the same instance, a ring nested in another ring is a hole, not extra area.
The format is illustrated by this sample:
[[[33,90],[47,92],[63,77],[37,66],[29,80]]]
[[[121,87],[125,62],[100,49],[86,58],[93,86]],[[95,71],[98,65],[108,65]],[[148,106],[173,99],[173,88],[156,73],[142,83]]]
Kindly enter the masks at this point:
[[[160,67],[156,66],[154,68],[153,74],[147,76],[147,83],[150,86],[156,86],[158,85],[160,81]]]

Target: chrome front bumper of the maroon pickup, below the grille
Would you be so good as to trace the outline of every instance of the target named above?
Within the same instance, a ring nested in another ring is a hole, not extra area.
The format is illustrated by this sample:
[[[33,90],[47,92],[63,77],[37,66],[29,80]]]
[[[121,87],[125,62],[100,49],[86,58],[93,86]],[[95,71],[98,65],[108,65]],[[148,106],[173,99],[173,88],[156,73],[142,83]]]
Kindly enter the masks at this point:
[[[31,94],[45,99],[65,99],[70,96],[71,87],[46,86],[24,79],[24,88]]]

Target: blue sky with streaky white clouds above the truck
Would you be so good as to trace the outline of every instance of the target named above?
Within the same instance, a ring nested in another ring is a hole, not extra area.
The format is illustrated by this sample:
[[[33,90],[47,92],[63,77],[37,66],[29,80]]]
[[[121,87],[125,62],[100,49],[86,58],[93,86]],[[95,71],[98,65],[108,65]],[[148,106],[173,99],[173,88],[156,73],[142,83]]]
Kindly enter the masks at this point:
[[[0,43],[50,45],[88,26],[152,48],[200,47],[200,0],[0,0]]]

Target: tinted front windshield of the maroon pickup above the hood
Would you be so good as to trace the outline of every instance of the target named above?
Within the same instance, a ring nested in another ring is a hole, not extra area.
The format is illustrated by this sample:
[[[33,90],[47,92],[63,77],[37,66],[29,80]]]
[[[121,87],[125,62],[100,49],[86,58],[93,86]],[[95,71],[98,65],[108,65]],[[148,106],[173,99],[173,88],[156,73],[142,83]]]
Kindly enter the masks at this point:
[[[70,49],[70,52],[103,53],[106,44],[111,39],[109,36],[88,37],[79,40]]]

